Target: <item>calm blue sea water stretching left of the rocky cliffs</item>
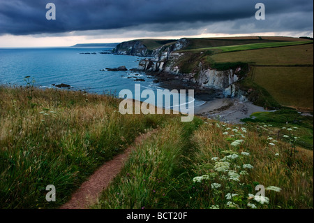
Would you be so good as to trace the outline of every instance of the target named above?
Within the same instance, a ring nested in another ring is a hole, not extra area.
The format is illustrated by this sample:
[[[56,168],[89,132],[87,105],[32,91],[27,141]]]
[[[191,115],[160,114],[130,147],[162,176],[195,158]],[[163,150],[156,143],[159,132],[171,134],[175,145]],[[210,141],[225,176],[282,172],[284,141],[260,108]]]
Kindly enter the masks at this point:
[[[156,92],[163,89],[145,73],[100,71],[119,66],[126,66],[128,70],[136,69],[142,59],[99,53],[110,49],[112,48],[3,48],[0,49],[0,85],[25,85],[24,77],[31,76],[37,87],[47,88],[64,83],[71,85],[72,89],[96,94],[119,94],[122,89],[130,89],[134,93],[135,84],[140,84],[142,91],[153,89]],[[96,55],[82,54],[87,52],[96,52]],[[135,82],[135,78],[145,81]],[[204,101],[195,100],[194,103],[199,106]]]

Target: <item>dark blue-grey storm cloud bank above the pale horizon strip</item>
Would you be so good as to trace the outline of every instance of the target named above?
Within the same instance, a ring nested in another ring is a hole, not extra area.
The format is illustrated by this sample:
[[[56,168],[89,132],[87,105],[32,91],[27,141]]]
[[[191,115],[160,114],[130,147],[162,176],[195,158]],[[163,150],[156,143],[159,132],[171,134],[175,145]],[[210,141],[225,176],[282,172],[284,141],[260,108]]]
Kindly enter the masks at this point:
[[[57,20],[45,18],[49,2],[57,7]],[[258,2],[266,6],[267,20],[263,22],[253,18]],[[253,22],[255,31],[313,29],[313,1],[0,0],[0,34],[56,34],[132,27],[184,31],[216,22],[228,24],[228,21],[236,21],[234,30],[243,26],[239,21]],[[248,27],[252,29],[252,25]]]

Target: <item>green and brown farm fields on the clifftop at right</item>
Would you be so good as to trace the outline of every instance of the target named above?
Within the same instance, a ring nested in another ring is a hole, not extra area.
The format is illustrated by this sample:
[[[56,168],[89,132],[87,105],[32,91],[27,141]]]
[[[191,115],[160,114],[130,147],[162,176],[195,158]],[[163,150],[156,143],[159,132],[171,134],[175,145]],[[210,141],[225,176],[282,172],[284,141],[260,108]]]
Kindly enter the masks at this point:
[[[313,44],[216,53],[206,57],[204,61],[214,66],[250,64],[251,72],[239,85],[246,90],[255,89],[248,95],[255,104],[313,111]]]

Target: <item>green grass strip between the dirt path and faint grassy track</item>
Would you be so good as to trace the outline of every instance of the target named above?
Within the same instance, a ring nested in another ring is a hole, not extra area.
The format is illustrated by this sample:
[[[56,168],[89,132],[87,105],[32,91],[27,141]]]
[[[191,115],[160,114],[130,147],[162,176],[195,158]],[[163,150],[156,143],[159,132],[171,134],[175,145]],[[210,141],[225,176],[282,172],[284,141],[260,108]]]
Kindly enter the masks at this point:
[[[167,208],[171,175],[184,140],[176,120],[139,145],[94,208]]]

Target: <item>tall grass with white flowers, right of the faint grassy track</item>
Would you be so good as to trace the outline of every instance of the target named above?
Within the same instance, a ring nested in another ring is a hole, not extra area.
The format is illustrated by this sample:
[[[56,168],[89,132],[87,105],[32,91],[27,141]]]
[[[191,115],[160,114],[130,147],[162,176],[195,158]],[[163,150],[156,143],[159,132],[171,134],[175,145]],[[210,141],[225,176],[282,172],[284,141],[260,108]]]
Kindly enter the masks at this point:
[[[195,132],[193,140],[198,148],[195,176],[209,175],[209,178],[194,183],[198,189],[192,198],[195,207],[313,208],[312,151],[298,148],[292,156],[290,144],[261,136],[257,129],[248,131],[244,127],[218,123],[204,124]],[[241,143],[233,146],[234,141]],[[230,154],[237,156],[231,158]],[[223,161],[230,166],[219,171],[217,164]],[[230,173],[237,173],[238,180],[230,177]],[[213,188],[213,183],[220,184],[220,187]],[[269,202],[260,203],[252,196],[257,193],[257,185],[266,189],[279,187],[281,192],[266,190],[264,196]],[[237,195],[227,199],[227,194]]]

